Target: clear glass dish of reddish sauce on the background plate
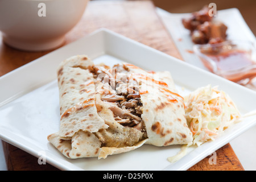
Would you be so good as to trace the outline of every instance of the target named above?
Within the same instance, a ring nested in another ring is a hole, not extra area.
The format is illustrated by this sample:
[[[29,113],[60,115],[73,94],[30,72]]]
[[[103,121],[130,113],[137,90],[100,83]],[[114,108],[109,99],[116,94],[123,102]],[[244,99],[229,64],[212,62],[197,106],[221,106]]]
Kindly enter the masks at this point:
[[[252,42],[196,44],[193,51],[210,72],[256,90],[256,48]]]

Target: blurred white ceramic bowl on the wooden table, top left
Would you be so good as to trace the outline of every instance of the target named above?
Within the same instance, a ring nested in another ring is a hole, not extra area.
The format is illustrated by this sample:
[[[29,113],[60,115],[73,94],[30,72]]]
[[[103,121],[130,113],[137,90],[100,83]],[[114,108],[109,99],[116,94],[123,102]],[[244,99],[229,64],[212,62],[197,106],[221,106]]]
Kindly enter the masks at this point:
[[[89,0],[1,0],[3,41],[26,51],[61,46],[65,34],[79,22]]]

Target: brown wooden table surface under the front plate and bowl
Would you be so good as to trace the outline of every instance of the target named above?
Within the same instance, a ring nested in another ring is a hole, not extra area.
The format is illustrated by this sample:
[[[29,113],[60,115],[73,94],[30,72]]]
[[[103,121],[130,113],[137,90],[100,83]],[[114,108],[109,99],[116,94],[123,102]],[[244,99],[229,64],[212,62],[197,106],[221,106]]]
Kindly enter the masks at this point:
[[[65,44],[105,27],[168,55],[182,59],[167,30],[164,28],[155,6],[150,1],[92,1],[80,22],[66,35]],[[0,76],[16,69],[51,51],[25,52],[6,46],[0,40]],[[39,165],[38,159],[3,142],[9,170],[58,170],[46,164]],[[230,144],[217,152],[217,164],[209,164],[210,156],[189,170],[243,170]]]

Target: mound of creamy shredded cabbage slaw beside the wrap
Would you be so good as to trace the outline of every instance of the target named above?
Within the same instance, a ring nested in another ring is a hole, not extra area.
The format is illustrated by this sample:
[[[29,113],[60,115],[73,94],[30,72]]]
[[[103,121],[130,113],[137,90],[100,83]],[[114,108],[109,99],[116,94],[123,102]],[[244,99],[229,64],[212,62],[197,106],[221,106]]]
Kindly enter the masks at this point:
[[[200,146],[214,140],[225,129],[241,121],[241,114],[231,98],[217,86],[207,85],[184,97],[187,124],[193,142]]]

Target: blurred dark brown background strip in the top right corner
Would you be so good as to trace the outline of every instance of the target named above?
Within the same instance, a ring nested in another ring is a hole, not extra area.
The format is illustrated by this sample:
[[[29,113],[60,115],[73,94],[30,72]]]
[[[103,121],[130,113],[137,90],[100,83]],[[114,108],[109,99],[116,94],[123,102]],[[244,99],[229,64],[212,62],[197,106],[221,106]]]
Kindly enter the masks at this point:
[[[125,0],[117,0],[125,1]],[[130,0],[133,1],[133,0]],[[142,0],[143,1],[143,0]],[[148,1],[148,0],[144,0]],[[170,13],[191,13],[200,10],[209,3],[216,3],[217,10],[236,7],[240,10],[243,18],[256,36],[256,1],[255,0],[152,0],[156,7]]]

